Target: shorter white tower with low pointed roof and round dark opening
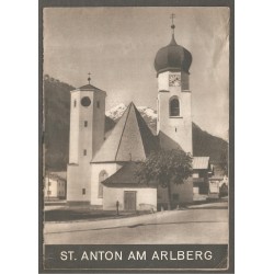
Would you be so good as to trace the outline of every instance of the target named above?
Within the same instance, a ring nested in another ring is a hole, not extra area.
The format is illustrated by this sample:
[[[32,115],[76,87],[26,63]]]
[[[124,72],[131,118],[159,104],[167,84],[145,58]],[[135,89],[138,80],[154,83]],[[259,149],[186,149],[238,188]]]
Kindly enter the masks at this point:
[[[90,75],[90,73],[89,73]],[[106,93],[90,84],[71,91],[67,201],[90,202],[91,160],[104,141]]]

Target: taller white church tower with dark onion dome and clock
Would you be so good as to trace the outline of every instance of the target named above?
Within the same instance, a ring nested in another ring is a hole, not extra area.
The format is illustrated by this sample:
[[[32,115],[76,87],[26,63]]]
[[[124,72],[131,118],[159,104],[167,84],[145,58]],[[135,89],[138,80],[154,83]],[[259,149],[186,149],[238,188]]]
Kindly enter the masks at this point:
[[[172,37],[158,50],[155,68],[158,79],[157,135],[163,149],[192,149],[192,107],[190,67],[192,55],[175,42],[172,14]]]

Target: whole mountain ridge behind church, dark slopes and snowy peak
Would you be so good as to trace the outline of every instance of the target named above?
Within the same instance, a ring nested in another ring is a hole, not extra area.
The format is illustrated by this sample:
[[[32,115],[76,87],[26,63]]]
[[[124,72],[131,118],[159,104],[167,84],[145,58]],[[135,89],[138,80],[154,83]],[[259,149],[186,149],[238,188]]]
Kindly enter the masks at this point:
[[[44,77],[45,112],[45,168],[50,171],[67,169],[69,156],[70,91],[75,88],[49,76]],[[105,113],[105,133],[115,126],[126,105],[121,103]],[[156,135],[157,112],[148,106],[137,106],[141,116]],[[220,162],[228,152],[228,142],[210,135],[193,123],[193,155],[209,156]]]

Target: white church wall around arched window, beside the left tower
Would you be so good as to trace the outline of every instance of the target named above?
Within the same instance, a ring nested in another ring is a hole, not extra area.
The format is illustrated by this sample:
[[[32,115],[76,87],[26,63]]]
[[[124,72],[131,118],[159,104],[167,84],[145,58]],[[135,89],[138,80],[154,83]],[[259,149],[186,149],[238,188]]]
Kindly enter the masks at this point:
[[[92,163],[91,164],[91,194],[90,201],[92,205],[103,205],[103,198],[99,197],[99,175],[102,171],[107,173],[107,178],[113,175],[118,171],[123,165],[111,162],[111,163]]]

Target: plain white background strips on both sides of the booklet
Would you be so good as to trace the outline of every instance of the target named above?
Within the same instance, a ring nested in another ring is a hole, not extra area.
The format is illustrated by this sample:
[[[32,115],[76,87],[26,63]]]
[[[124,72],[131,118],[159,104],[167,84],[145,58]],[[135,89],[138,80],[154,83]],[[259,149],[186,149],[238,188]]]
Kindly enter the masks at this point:
[[[38,1],[1,3],[1,269],[38,270]],[[236,273],[270,273],[273,1],[236,0]]]

